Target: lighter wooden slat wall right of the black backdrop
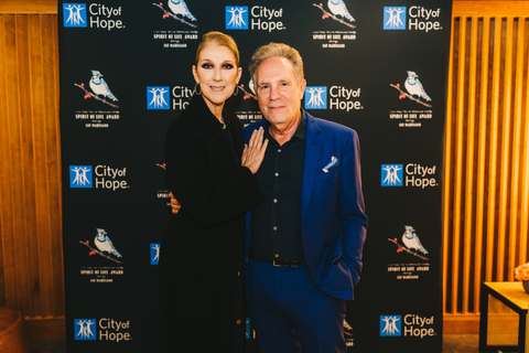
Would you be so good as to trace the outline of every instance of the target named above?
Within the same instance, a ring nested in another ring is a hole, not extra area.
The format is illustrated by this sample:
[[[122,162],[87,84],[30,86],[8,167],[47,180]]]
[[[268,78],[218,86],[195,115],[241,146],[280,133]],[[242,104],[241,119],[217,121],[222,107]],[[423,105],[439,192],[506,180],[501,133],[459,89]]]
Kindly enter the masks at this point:
[[[529,1],[460,1],[453,12],[445,320],[466,317],[477,328],[479,285],[515,280],[529,260]]]

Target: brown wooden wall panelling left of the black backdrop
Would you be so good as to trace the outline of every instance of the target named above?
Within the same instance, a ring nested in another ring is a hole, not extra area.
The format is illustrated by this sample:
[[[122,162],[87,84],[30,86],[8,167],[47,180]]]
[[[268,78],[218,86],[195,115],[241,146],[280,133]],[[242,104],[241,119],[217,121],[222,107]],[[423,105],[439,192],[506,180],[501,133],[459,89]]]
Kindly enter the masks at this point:
[[[0,14],[0,304],[64,315],[57,17]]]

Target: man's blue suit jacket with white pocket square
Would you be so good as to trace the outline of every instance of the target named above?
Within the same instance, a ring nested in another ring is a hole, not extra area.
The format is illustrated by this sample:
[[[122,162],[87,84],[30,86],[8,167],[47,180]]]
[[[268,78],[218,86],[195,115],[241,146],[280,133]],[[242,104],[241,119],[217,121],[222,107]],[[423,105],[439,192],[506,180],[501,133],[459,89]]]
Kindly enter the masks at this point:
[[[259,120],[247,126],[245,141],[261,126],[267,128],[267,122]],[[338,159],[338,164],[324,172],[332,157]],[[306,114],[301,227],[306,267],[316,287],[331,297],[353,300],[367,232],[358,136],[353,129],[310,114]],[[251,211],[246,215],[247,276],[251,276],[250,231]],[[249,286],[246,288],[249,298]]]

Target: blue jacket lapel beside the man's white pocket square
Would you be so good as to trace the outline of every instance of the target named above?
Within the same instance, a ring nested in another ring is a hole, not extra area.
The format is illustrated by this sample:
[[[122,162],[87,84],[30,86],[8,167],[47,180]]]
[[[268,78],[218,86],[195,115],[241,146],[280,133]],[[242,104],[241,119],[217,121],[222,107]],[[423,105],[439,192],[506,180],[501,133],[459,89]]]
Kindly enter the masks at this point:
[[[314,176],[317,173],[317,160],[322,148],[322,137],[317,121],[306,113],[305,160],[303,165],[303,182],[301,185],[301,223],[305,220],[306,208],[311,200]]]

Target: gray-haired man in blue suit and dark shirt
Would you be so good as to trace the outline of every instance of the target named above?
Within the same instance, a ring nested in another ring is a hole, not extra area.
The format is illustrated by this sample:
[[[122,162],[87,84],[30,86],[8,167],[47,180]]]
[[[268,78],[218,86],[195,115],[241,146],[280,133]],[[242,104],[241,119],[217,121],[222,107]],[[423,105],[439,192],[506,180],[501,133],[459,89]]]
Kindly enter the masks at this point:
[[[356,132],[301,109],[296,50],[270,43],[249,64],[269,146],[255,174],[264,201],[246,218],[246,289],[263,353],[346,352],[345,300],[367,231]]]

